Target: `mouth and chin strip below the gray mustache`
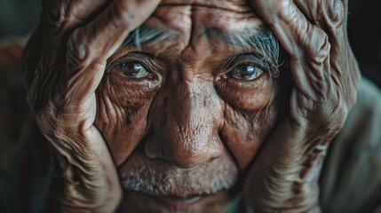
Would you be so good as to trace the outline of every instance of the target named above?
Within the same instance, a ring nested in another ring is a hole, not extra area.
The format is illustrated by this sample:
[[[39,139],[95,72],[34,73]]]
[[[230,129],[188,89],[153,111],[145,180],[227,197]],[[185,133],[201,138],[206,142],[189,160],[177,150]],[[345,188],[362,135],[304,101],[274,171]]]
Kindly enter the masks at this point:
[[[233,189],[186,197],[126,192],[122,208],[126,212],[226,212],[238,198]]]

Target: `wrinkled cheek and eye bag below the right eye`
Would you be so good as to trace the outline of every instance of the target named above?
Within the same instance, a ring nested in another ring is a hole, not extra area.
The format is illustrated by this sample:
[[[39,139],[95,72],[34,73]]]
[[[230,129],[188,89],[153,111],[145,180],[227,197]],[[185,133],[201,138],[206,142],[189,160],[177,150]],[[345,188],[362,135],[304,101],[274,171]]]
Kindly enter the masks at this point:
[[[268,82],[251,89],[246,87],[245,94],[231,91],[229,99],[225,99],[225,124],[221,134],[241,170],[249,165],[276,122],[277,87],[272,80]],[[232,99],[235,101],[231,102]]]

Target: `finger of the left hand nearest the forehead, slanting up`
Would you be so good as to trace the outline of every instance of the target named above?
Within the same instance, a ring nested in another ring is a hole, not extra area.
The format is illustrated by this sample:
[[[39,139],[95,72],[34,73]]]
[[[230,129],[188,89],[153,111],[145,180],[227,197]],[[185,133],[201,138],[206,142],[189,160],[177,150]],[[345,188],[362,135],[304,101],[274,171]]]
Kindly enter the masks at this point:
[[[159,3],[160,0],[115,0],[91,23],[75,29],[67,43],[67,59],[103,63]]]

